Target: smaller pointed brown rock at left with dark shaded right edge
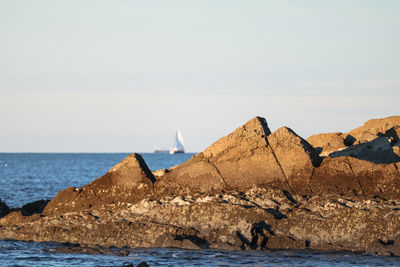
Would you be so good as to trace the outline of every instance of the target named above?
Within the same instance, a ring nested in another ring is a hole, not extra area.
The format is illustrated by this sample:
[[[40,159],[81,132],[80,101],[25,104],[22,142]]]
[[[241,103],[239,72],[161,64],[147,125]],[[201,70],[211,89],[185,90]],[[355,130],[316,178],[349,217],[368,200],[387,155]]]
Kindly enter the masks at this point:
[[[131,154],[92,183],[60,191],[48,203],[44,213],[133,203],[152,195],[155,181],[142,156]]]

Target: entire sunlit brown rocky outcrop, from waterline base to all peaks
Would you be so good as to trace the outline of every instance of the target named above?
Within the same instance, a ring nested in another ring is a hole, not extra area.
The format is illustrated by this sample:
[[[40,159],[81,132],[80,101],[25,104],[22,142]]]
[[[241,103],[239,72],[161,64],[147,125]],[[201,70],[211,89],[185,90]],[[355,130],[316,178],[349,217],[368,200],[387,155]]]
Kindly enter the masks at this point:
[[[290,128],[271,133],[260,117],[169,170],[151,172],[132,154],[49,203],[7,210],[0,202],[0,238],[400,256],[400,162],[385,158],[397,155],[397,117],[363,127],[309,138],[342,149],[324,158]]]

